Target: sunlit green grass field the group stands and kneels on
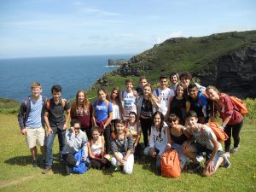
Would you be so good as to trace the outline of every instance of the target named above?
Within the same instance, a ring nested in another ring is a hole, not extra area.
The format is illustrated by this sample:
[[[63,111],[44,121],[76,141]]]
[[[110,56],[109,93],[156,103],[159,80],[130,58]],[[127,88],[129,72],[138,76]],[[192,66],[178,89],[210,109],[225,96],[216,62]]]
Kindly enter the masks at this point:
[[[84,175],[67,176],[56,160],[55,173],[43,175],[42,168],[31,166],[15,115],[0,114],[0,131],[0,191],[256,191],[255,124],[243,126],[241,148],[231,155],[230,169],[221,167],[209,178],[183,173],[177,179],[156,176],[148,163],[135,164],[131,175],[89,170]],[[55,159],[57,143],[55,138]]]

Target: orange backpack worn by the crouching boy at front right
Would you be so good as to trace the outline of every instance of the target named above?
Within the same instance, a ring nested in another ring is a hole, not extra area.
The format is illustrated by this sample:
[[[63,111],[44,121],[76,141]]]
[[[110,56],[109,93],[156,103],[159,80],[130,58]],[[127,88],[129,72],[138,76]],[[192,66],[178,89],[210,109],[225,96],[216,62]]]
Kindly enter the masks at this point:
[[[218,139],[218,142],[224,142],[229,138],[228,135],[221,129],[221,126],[218,125],[218,123],[209,122],[206,125],[212,129],[212,131],[214,132],[215,136]],[[192,127],[189,128],[189,133],[190,135],[192,135]],[[207,137],[207,135],[204,132],[204,125],[201,125],[201,133],[204,137]]]

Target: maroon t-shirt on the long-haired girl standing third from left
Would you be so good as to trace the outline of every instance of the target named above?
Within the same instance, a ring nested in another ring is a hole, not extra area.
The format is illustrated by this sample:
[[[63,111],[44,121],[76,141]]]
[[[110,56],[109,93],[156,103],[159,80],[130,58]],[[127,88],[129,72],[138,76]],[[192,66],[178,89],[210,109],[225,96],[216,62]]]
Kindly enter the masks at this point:
[[[74,113],[75,110],[76,110],[76,113]],[[91,114],[92,114],[91,104],[89,104],[89,106],[86,108],[82,108],[82,107],[75,108],[75,104],[73,104],[70,109],[71,119],[78,119],[81,124],[81,128],[91,127]]]

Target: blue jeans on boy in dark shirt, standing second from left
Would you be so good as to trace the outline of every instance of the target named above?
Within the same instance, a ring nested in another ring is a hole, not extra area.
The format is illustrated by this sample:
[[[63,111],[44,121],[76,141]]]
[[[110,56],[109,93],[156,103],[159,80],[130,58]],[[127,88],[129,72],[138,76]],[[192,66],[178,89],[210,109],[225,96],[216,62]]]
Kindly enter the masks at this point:
[[[53,133],[50,133],[50,135],[48,137],[45,137],[45,139],[44,139],[44,146],[45,146],[44,166],[52,166],[52,162],[53,162],[52,148],[53,148],[53,143],[55,141],[56,135],[58,135],[58,139],[59,139],[60,154],[61,154],[62,149],[65,147],[66,130],[57,129],[56,131],[53,131]]]

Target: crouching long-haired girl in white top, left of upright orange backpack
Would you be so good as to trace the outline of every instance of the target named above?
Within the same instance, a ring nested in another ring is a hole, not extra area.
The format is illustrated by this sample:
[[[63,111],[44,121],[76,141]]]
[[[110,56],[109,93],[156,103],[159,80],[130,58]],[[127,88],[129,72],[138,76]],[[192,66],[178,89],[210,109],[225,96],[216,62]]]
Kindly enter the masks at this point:
[[[151,126],[149,147],[144,148],[144,154],[156,160],[155,166],[160,171],[160,157],[171,148],[171,137],[168,125],[164,122],[163,113],[157,111],[153,114],[154,125]]]

